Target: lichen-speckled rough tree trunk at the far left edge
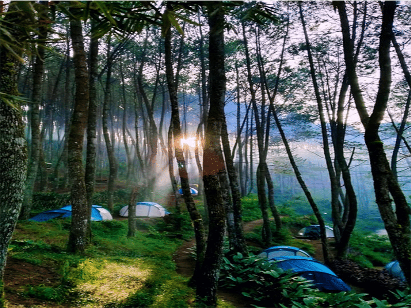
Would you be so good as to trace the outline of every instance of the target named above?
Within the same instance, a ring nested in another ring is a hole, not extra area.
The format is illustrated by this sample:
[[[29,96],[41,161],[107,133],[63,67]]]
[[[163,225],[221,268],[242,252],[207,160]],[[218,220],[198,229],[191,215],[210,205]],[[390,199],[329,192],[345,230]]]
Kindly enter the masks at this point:
[[[23,13],[17,13],[15,4],[10,5],[4,21],[17,20],[24,22],[27,17]],[[15,19],[14,19],[15,18]],[[3,21],[2,25],[3,27]],[[15,43],[20,47],[20,39],[24,35],[24,29],[9,28]],[[4,34],[0,38],[8,41]],[[27,145],[24,136],[24,124],[22,110],[18,103],[6,95],[18,95],[16,71],[18,59],[7,49],[9,46],[0,46],[0,307],[5,308],[4,298],[4,268],[11,236],[18,219],[18,214],[23,201],[23,189],[27,172]],[[20,54],[21,50],[15,50]]]

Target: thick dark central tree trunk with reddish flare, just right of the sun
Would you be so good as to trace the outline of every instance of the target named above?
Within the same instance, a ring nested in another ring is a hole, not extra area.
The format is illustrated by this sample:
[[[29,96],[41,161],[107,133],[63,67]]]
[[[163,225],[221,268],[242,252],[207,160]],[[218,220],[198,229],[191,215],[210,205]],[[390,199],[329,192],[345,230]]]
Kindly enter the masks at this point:
[[[207,307],[217,305],[217,283],[222,262],[225,232],[225,208],[221,195],[219,174],[226,172],[221,151],[221,106],[225,102],[226,73],[224,66],[224,10],[222,1],[207,3],[210,26],[210,111],[203,155],[204,194],[209,212],[209,235],[206,257],[197,283],[196,301]]]

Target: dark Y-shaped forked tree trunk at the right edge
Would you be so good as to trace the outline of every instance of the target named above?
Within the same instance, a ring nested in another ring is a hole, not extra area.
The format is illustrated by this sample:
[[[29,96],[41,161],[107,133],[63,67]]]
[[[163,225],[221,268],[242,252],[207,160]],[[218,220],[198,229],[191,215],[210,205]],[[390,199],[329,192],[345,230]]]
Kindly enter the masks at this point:
[[[383,118],[391,85],[391,61],[389,44],[396,8],[395,1],[385,1],[383,5],[382,26],[379,45],[380,80],[376,103],[371,115],[368,115],[366,104],[361,93],[353,60],[353,42],[350,38],[348,17],[345,2],[335,2],[337,6],[343,35],[344,60],[351,86],[351,93],[361,122],[365,128],[364,139],[368,149],[371,165],[371,174],[374,182],[376,202],[384,222],[388,238],[394,249],[394,254],[400,263],[401,269],[411,283],[411,230],[409,222],[409,207],[405,196],[389,167],[383,142],[379,137],[379,127]],[[392,198],[392,199],[391,199]],[[392,206],[394,200],[395,211]]]

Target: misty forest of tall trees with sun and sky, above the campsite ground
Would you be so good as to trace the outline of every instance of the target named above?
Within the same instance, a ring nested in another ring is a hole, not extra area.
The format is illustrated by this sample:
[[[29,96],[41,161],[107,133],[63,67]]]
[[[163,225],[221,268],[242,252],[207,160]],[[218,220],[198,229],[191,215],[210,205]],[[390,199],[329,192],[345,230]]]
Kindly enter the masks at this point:
[[[120,186],[130,213],[160,195],[188,211],[206,306],[226,231],[248,255],[250,194],[266,246],[299,200],[326,264],[354,229],[385,229],[411,283],[408,2],[2,1],[0,14],[0,288],[33,195],[69,192],[67,251],[82,254],[96,185],[112,213]]]

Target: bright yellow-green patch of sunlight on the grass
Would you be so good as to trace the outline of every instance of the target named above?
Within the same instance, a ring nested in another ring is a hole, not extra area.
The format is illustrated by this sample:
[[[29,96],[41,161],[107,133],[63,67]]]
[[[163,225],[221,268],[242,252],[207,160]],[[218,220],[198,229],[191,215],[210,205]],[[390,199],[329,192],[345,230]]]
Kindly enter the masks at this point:
[[[103,307],[105,303],[124,300],[141,288],[150,277],[151,269],[137,262],[127,263],[105,262],[96,279],[78,283],[76,290],[81,294],[81,301],[88,302],[82,307]]]

